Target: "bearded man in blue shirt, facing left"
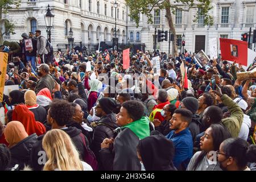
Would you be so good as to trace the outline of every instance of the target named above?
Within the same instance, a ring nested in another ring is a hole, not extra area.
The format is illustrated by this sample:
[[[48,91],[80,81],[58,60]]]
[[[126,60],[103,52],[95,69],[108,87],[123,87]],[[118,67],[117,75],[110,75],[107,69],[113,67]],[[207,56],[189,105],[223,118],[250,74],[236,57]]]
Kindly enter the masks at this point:
[[[170,120],[172,130],[166,138],[174,142],[175,155],[174,166],[179,170],[185,170],[193,156],[193,140],[188,129],[192,120],[192,112],[188,109],[176,109]]]

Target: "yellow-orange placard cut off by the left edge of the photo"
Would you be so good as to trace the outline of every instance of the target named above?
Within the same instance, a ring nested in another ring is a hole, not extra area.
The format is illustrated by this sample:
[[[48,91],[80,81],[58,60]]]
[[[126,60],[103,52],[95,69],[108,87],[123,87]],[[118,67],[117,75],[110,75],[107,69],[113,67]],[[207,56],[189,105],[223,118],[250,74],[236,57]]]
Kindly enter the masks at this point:
[[[7,62],[8,53],[0,52],[0,102],[3,101],[3,88],[5,87]]]

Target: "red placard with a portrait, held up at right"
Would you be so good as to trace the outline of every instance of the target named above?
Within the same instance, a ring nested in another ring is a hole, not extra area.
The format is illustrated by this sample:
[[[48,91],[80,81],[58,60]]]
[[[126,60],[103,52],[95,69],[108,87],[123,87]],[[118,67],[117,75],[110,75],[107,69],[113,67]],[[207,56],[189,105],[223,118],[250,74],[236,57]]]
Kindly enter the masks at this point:
[[[222,60],[236,61],[247,66],[247,42],[220,38],[220,48]]]

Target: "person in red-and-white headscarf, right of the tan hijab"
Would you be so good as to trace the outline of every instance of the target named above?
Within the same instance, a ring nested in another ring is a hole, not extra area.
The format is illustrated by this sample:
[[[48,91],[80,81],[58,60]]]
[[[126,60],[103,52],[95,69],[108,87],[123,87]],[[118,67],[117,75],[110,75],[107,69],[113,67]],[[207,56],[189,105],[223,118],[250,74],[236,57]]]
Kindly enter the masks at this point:
[[[38,94],[36,95],[36,102],[40,106],[43,106],[46,111],[48,111],[49,105],[52,102],[51,92],[48,88],[44,88],[38,92]]]

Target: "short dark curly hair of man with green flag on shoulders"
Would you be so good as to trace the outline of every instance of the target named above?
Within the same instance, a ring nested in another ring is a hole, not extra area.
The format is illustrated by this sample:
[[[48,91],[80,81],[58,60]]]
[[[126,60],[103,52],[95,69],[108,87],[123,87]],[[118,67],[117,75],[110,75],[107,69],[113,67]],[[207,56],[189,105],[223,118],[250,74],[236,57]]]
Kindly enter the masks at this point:
[[[133,100],[123,102],[122,107],[127,110],[127,113],[129,114],[130,118],[133,119],[133,121],[141,119],[144,115],[144,106],[139,101]]]

